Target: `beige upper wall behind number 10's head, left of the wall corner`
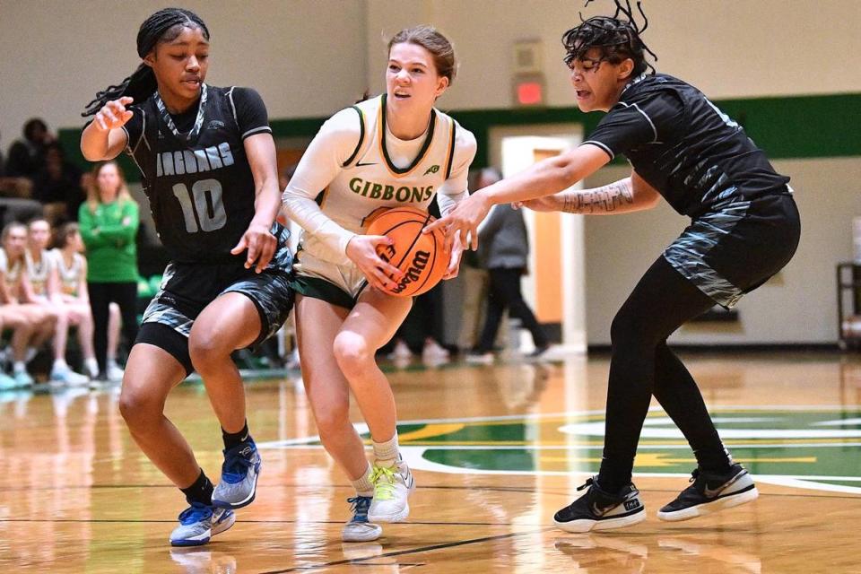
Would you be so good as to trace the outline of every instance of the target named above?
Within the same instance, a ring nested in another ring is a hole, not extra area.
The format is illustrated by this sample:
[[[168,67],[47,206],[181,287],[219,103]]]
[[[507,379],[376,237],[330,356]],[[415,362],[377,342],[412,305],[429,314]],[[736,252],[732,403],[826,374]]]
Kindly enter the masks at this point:
[[[153,0],[0,0],[0,145],[28,117],[53,129],[80,126],[96,91],[140,63],[138,27],[165,3]],[[260,91],[270,117],[320,117],[365,89],[361,0],[181,3],[212,36],[213,85]]]

